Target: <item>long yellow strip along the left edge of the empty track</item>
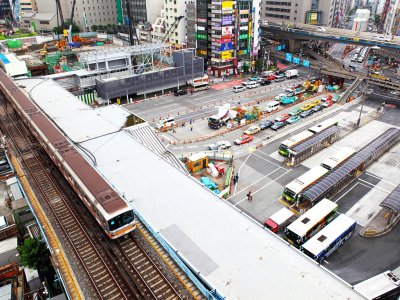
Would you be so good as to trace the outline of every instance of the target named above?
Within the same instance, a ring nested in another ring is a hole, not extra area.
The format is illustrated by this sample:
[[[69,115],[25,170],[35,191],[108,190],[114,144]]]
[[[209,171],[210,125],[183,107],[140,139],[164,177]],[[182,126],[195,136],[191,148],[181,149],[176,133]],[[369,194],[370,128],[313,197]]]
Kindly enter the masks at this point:
[[[58,269],[60,270],[60,274],[63,278],[63,281],[68,289],[68,294],[71,299],[84,299],[83,293],[78,285],[78,281],[73,274],[70,264],[68,263],[68,259],[65,256],[64,250],[60,244],[60,241],[57,238],[54,229],[51,227],[49,220],[46,215],[43,213],[43,210],[35,197],[28,180],[23,173],[19,162],[15,159],[13,155],[10,155],[11,164],[13,165],[15,171],[17,172],[18,179],[24,188],[24,191],[28,197],[29,202],[31,203],[32,208],[35,211],[36,216],[43,227],[46,238],[50,243],[50,247],[52,250],[52,256],[54,261],[57,263]]]

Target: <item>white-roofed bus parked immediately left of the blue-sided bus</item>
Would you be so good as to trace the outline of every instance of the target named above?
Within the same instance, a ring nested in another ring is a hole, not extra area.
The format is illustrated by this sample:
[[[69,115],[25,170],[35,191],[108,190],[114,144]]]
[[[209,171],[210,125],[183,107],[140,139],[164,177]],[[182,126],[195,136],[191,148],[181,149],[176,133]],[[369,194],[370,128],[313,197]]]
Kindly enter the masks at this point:
[[[338,205],[322,199],[285,229],[285,240],[299,248],[336,216]]]

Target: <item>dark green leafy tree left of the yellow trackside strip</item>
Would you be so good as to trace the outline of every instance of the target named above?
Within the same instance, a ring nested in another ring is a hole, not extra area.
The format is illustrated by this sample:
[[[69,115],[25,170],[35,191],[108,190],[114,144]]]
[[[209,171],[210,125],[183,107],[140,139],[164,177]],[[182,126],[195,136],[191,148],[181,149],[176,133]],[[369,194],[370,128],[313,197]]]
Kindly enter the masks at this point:
[[[18,251],[23,266],[36,269],[39,271],[39,274],[49,271],[49,266],[51,265],[49,259],[50,251],[47,249],[45,243],[42,243],[38,239],[29,238],[18,247]]]

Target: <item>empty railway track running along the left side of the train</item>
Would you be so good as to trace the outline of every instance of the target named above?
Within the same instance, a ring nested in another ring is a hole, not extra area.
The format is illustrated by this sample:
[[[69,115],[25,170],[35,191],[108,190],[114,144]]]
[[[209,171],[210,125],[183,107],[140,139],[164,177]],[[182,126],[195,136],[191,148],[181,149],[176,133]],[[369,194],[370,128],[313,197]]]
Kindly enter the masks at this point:
[[[58,189],[42,158],[33,149],[32,140],[21,129],[24,125],[7,111],[5,101],[0,101],[0,125],[80,261],[87,274],[86,279],[91,283],[91,293],[96,299],[133,299],[132,289],[124,282],[120,271],[105,261],[103,253],[99,251],[101,246],[94,243],[73,213],[67,197]]]

